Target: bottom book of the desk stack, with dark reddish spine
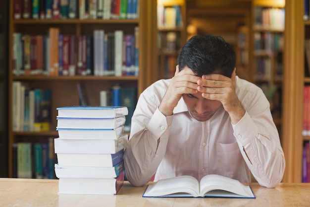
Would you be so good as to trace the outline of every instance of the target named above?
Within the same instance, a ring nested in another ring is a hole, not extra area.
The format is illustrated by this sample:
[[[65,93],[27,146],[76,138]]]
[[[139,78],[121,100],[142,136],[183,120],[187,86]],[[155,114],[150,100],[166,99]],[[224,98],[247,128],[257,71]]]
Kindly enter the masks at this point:
[[[115,195],[123,183],[123,172],[116,178],[59,178],[58,194]]]

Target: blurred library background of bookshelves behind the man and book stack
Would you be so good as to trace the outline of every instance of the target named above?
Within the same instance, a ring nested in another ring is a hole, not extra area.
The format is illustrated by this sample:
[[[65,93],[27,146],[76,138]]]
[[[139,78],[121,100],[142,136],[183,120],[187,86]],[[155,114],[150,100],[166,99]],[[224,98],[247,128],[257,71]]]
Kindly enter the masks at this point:
[[[307,0],[4,0],[0,177],[36,178],[32,146],[40,144],[43,177],[55,178],[57,107],[123,105],[130,119],[139,94],[173,76],[186,40],[206,33],[233,46],[237,75],[270,101],[283,182],[310,182]]]

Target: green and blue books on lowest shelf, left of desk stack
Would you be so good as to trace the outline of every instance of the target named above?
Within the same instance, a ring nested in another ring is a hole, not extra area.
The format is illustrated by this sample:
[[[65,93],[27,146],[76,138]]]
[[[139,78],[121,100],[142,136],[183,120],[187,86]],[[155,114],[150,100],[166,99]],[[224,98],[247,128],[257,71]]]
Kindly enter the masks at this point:
[[[13,178],[54,179],[53,139],[13,144]]]

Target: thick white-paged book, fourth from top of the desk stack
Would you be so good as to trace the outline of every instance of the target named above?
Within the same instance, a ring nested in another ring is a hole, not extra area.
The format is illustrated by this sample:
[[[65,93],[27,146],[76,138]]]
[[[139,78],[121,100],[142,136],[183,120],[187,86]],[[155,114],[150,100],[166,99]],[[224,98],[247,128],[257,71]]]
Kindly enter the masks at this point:
[[[117,139],[54,139],[55,153],[116,153],[123,149],[128,135],[123,134]]]

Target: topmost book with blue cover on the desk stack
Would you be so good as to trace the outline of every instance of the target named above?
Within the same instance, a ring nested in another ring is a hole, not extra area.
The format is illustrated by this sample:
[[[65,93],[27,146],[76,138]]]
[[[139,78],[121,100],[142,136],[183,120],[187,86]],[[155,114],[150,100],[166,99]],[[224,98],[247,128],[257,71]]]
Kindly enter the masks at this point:
[[[116,118],[128,114],[124,106],[65,106],[57,111],[61,118]]]

